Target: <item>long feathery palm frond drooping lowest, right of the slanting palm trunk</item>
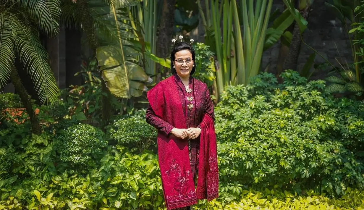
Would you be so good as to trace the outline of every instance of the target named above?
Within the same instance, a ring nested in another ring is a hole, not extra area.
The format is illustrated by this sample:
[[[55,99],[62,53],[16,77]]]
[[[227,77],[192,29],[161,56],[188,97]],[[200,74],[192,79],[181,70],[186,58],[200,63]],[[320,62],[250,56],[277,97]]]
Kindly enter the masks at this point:
[[[48,64],[48,53],[34,35],[35,29],[29,28],[21,20],[17,22],[16,50],[19,60],[27,69],[41,103],[53,103],[59,94],[59,89]]]

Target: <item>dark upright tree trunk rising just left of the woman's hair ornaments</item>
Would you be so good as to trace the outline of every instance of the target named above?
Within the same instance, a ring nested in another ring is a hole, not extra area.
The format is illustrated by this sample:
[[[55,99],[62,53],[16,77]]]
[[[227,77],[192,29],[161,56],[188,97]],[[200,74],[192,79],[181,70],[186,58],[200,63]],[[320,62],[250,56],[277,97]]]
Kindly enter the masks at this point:
[[[157,49],[156,54],[160,58],[167,58],[170,54],[171,40],[173,38],[173,26],[174,26],[174,10],[175,0],[163,0],[162,17],[158,28],[157,37]],[[163,76],[167,75],[167,71],[159,72],[162,68],[160,64],[156,65],[157,79],[156,82],[160,82]],[[164,68],[166,70],[166,68]],[[162,73],[162,74],[161,74]]]

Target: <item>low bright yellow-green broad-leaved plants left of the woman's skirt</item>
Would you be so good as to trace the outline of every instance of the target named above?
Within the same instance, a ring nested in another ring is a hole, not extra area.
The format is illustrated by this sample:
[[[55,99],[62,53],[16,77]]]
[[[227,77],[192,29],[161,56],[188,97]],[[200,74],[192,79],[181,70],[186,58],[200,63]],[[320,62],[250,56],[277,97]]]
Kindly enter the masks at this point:
[[[46,159],[41,169],[26,169],[32,173],[22,179],[0,178],[0,209],[17,203],[23,209],[163,208],[158,158],[153,152],[134,155],[128,148],[108,146],[100,156],[101,161],[85,167],[82,174],[65,164],[55,167],[53,163],[58,162],[58,156],[52,152],[40,154],[45,158],[34,163]]]

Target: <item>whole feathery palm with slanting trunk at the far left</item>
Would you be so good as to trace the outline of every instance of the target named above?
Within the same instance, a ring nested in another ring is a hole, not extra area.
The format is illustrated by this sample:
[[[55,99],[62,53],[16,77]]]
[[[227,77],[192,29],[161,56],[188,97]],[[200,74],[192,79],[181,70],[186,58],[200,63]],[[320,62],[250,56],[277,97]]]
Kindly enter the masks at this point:
[[[56,35],[60,15],[60,0],[0,2],[0,86],[11,78],[36,134],[41,132],[40,125],[19,74],[29,75],[41,103],[53,103],[58,98],[58,86],[39,33]]]

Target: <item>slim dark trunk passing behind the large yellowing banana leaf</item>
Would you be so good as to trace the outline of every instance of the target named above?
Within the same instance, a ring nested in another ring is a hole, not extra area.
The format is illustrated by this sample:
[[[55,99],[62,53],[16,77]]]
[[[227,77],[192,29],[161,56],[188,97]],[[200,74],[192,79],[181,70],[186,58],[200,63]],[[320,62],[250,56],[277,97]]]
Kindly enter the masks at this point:
[[[99,41],[96,37],[96,29],[94,27],[94,23],[91,19],[91,15],[88,11],[87,0],[78,0],[77,4],[80,8],[81,14],[81,23],[84,28],[84,32],[87,36],[88,44],[92,50],[92,57],[96,56],[96,48],[99,46]],[[101,90],[103,93],[102,95],[102,130],[105,131],[105,126],[107,125],[110,116],[112,115],[112,107],[110,99],[112,97],[109,89],[106,87],[106,83],[102,78],[102,72],[100,72],[100,79],[101,79]]]

